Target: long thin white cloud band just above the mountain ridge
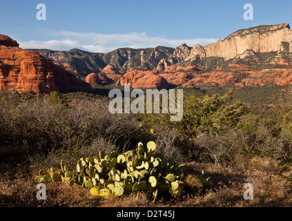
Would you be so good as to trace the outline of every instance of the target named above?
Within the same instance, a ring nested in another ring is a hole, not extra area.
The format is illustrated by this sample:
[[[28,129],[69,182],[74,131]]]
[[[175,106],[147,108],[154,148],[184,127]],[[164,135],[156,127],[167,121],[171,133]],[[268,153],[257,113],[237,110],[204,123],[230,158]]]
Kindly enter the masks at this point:
[[[105,35],[99,33],[81,33],[70,31],[52,31],[59,40],[50,41],[19,41],[21,48],[47,48],[51,50],[70,50],[79,48],[90,52],[110,52],[117,48],[155,48],[168,46],[176,48],[186,43],[188,46],[212,44],[217,39],[166,39],[163,37],[148,37],[146,33],[133,32],[128,34]]]

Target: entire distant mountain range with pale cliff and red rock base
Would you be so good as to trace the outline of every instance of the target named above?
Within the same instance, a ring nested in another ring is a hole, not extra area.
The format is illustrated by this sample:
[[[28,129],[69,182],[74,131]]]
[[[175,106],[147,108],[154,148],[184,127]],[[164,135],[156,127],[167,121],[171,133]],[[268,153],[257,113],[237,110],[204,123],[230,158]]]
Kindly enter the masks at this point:
[[[78,49],[35,51],[78,77],[88,76],[90,84],[117,80],[117,85],[135,88],[292,85],[288,23],[237,30],[207,46],[118,48],[104,54]]]

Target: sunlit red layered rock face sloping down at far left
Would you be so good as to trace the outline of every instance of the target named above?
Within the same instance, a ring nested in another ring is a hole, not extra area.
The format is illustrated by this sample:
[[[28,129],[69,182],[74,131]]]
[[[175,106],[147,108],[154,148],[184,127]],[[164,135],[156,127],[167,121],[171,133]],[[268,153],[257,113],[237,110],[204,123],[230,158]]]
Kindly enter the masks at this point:
[[[39,53],[18,48],[17,42],[9,37],[0,35],[0,39],[1,90],[20,93],[93,90],[90,84]]]

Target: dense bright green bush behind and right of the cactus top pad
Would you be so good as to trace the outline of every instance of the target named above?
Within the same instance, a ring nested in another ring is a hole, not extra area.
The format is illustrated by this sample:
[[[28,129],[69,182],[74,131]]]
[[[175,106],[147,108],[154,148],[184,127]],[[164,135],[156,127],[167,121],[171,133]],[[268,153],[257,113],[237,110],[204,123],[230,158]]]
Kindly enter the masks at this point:
[[[232,90],[223,96],[205,95],[199,98],[189,95],[184,97],[182,120],[171,122],[167,114],[152,114],[146,115],[144,121],[148,124],[176,128],[179,133],[191,139],[203,133],[222,134],[226,132],[226,127],[235,128],[248,113],[248,108],[231,95]]]

